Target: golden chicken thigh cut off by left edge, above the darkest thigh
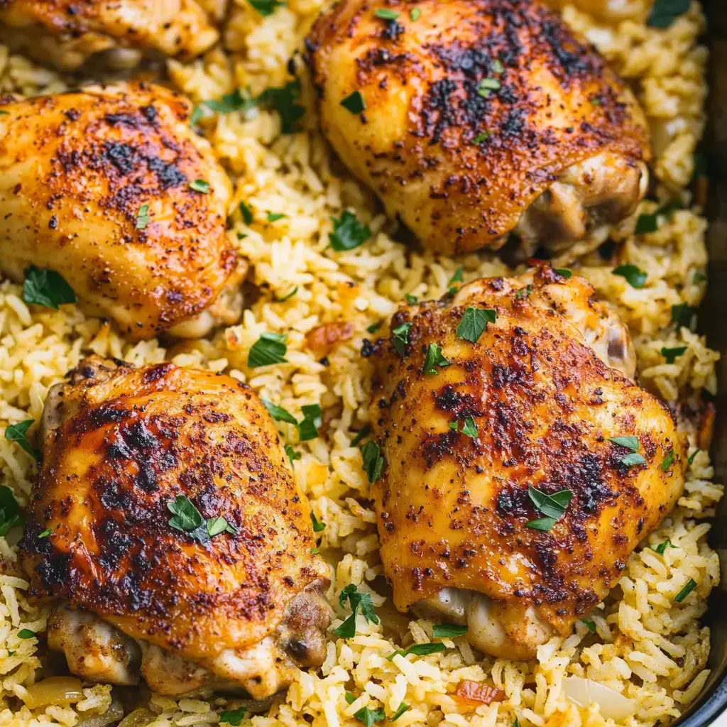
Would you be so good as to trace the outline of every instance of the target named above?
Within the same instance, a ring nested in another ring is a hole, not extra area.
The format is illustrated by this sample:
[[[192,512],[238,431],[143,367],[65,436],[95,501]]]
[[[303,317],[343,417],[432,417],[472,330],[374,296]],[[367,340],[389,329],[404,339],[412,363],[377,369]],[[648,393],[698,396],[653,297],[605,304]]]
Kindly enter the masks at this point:
[[[0,272],[51,268],[132,339],[197,337],[241,310],[230,181],[189,104],[144,84],[7,103]]]

